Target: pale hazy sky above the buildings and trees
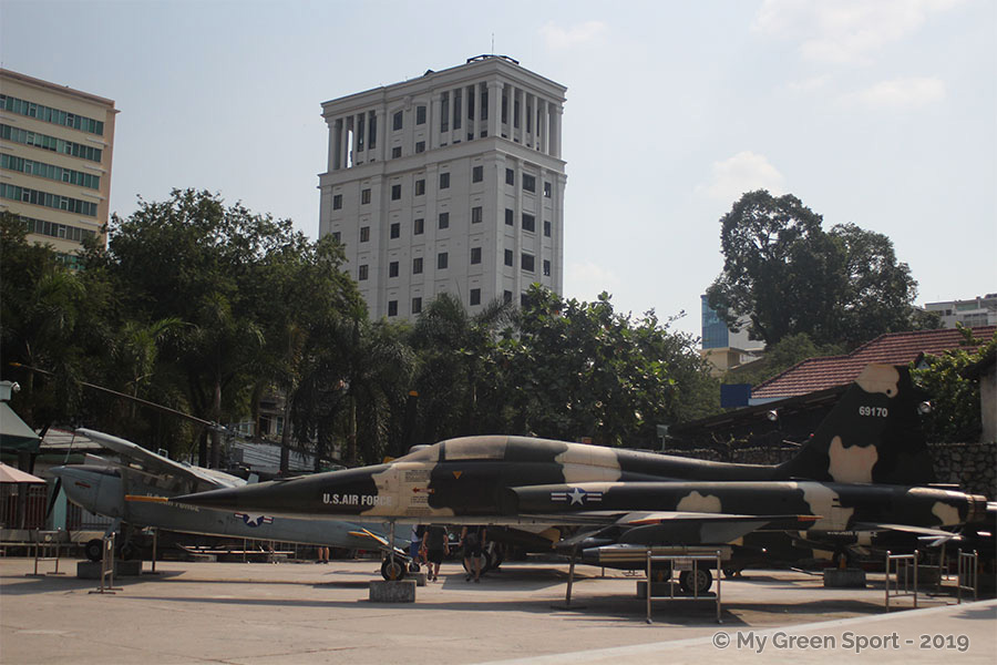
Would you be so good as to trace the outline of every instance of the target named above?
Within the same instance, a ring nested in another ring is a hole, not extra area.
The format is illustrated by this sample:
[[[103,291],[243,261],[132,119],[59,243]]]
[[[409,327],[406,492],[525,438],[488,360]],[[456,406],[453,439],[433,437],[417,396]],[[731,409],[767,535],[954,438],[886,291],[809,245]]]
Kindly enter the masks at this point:
[[[565,295],[699,334],[740,194],[997,291],[997,2],[0,0],[2,66],[113,99],[111,209],[173,187],[318,233],[321,102],[501,53],[567,86]],[[494,40],[494,47],[493,47]]]

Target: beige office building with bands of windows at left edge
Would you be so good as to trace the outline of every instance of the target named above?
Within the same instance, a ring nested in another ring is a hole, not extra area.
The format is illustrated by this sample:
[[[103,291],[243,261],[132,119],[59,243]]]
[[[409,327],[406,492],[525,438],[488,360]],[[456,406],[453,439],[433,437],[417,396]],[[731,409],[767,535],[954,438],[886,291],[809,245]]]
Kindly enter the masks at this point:
[[[0,211],[70,262],[83,238],[106,242],[116,114],[112,100],[0,69]]]

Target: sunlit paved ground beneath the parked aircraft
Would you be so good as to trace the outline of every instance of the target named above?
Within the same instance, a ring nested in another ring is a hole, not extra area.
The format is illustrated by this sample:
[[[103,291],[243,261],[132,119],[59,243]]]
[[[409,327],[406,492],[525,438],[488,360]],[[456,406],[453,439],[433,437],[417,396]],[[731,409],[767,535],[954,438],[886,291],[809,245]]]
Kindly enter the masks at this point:
[[[927,610],[887,615],[875,576],[866,590],[826,590],[812,575],[756,572],[723,582],[722,625],[709,600],[656,601],[647,625],[635,580],[589,567],[574,587],[578,607],[564,610],[552,607],[567,579],[557,564],[506,563],[481,584],[448,564],[414,604],[369,602],[368,582],[379,579],[370,561],[161,562],[157,575],[121,577],[122,590],[103,596],[74,576],[75,564],[31,577],[32,560],[0,559],[4,665],[800,664],[856,652],[877,663],[997,663],[997,602],[923,598]]]

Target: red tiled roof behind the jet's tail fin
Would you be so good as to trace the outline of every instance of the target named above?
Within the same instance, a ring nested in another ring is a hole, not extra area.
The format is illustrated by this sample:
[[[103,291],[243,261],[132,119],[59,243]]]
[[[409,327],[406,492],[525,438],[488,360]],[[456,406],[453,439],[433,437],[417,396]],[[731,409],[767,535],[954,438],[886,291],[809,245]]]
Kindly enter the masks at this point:
[[[987,340],[994,336],[997,326],[979,326],[972,330],[976,339]],[[751,398],[781,399],[845,386],[854,381],[862,368],[870,362],[906,365],[921,354],[937,356],[959,348],[962,341],[963,335],[954,328],[888,332],[862,345],[847,356],[808,358],[756,386],[751,390]]]

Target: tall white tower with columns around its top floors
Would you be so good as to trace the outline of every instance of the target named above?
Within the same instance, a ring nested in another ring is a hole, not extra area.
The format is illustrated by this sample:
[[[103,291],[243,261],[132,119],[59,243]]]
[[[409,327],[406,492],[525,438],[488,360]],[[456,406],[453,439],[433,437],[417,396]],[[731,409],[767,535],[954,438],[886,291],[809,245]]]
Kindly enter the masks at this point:
[[[319,235],[345,245],[371,318],[443,291],[472,314],[533,283],[562,293],[565,91],[480,55],[322,104]]]

